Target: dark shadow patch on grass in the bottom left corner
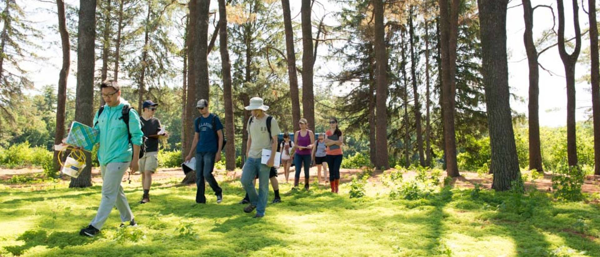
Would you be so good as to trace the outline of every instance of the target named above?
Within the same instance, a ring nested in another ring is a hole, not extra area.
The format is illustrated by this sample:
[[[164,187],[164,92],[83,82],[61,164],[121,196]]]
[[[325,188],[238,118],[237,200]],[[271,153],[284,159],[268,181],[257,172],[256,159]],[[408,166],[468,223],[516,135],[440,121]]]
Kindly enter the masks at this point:
[[[25,244],[22,246],[6,246],[4,249],[13,255],[19,256],[35,246],[63,249],[67,246],[80,246],[91,243],[97,238],[82,237],[78,232],[52,232],[48,235],[45,230],[29,230],[19,235],[17,240],[25,241]]]

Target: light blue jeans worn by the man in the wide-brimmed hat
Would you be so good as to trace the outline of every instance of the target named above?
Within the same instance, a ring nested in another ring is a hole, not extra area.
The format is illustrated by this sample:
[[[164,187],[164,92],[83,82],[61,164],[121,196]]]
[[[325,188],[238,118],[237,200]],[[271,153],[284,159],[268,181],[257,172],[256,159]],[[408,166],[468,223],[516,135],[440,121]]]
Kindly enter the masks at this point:
[[[256,214],[265,215],[266,200],[269,198],[269,168],[260,163],[260,158],[248,158],[242,168],[242,186],[248,193],[250,204],[256,205]],[[259,192],[254,188],[254,177],[259,175]]]

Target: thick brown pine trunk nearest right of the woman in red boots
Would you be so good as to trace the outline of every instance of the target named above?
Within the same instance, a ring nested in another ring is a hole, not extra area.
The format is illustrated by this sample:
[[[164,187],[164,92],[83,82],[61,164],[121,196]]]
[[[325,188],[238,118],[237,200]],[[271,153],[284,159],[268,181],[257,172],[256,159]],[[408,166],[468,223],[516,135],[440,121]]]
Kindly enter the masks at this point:
[[[385,45],[385,28],[383,25],[383,1],[373,0],[375,16],[375,58],[376,75],[376,108],[377,108],[377,169],[389,169],[388,160],[388,53]]]

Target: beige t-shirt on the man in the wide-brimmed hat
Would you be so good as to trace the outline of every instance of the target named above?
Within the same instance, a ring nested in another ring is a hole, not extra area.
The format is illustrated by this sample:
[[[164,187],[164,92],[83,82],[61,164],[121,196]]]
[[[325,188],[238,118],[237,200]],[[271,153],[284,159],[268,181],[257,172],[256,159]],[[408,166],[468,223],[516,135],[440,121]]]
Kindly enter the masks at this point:
[[[271,150],[271,138],[269,138],[269,131],[266,130],[266,117],[267,114],[263,115],[261,119],[257,117],[251,117],[252,123],[248,125],[248,134],[252,140],[250,145],[250,151],[248,152],[249,158],[261,158],[262,149]],[[250,120],[248,120],[250,122]],[[279,125],[275,117],[271,119],[271,137],[277,137],[281,133]]]

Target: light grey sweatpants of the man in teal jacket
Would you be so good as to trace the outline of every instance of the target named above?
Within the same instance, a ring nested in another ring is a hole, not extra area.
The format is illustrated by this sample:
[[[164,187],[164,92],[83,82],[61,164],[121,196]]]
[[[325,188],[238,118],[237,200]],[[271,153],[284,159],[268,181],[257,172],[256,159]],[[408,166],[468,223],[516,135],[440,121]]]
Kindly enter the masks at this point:
[[[96,217],[89,223],[98,230],[102,229],[104,222],[109,217],[110,211],[116,205],[121,214],[121,222],[128,222],[133,219],[133,213],[129,208],[127,197],[123,192],[121,180],[130,162],[111,162],[107,165],[100,165],[102,174],[102,199]]]

